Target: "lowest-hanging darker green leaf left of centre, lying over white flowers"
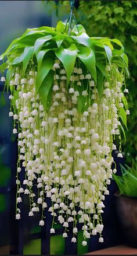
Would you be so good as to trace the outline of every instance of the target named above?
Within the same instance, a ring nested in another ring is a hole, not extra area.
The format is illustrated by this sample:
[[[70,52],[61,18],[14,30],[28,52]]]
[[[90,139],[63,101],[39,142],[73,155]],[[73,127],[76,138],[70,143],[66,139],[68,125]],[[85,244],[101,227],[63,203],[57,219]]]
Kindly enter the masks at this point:
[[[51,99],[52,85],[53,85],[53,71],[49,71],[48,75],[45,77],[42,82],[41,87],[39,88],[39,96],[41,98],[41,102],[44,106],[45,112],[48,111],[50,107],[49,100]]]

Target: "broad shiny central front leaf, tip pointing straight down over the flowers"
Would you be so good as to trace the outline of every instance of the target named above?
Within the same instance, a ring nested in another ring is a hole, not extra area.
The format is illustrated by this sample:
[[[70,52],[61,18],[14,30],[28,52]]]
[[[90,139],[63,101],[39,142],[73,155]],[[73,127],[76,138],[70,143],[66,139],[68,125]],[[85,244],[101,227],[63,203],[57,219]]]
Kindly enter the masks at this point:
[[[67,74],[67,85],[70,82],[70,76],[73,72],[75,59],[77,57],[77,47],[75,44],[71,44],[69,48],[63,48],[62,46],[55,52],[56,57],[60,59],[62,62],[64,69],[66,70]]]

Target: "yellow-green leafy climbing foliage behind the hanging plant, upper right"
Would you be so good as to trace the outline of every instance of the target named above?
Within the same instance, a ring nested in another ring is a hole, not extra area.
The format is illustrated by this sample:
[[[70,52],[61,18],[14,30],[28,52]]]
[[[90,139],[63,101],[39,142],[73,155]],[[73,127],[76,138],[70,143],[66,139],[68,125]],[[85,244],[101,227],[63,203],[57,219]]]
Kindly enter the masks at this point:
[[[48,1],[48,6],[54,1]],[[123,146],[126,161],[131,162],[131,157],[136,157],[137,152],[137,90],[136,90],[136,65],[137,65],[137,2],[136,1],[79,1],[78,9],[75,9],[75,16],[78,23],[81,23],[88,34],[92,37],[119,38],[125,45],[125,53],[129,57],[128,81],[129,110],[131,118],[128,120],[127,142]],[[58,19],[63,17],[68,10],[69,1],[58,1],[55,5]],[[59,12],[57,12],[59,10]]]

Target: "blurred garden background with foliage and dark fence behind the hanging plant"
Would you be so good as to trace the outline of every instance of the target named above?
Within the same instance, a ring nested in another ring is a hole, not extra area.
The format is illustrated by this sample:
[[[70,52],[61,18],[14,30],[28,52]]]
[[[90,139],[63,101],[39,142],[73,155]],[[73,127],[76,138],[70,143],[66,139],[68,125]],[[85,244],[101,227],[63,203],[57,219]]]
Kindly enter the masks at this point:
[[[54,27],[58,20],[65,21],[69,15],[70,6],[69,1],[0,1],[0,9],[0,54],[2,54],[10,42],[14,38],[20,37],[27,28]],[[129,90],[127,99],[131,115],[128,117],[127,139],[125,144],[123,143],[122,152],[125,156],[125,162],[130,166],[132,159],[137,157],[137,1],[75,1],[74,15],[77,23],[85,27],[89,36],[118,38],[128,55],[130,78],[127,80]],[[41,237],[37,219],[32,222],[27,218],[21,220],[23,229],[16,222],[11,223],[14,218],[12,211],[15,207],[12,193],[14,194],[16,189],[13,176],[16,169],[17,147],[16,141],[13,141],[11,135],[12,122],[8,117],[8,95],[6,92],[4,95],[2,94],[2,84],[0,93],[0,254],[11,252],[14,254],[17,251],[24,255],[41,254],[41,245],[44,247],[48,244],[48,234],[42,230]],[[3,96],[6,103],[3,101]],[[89,247],[82,247],[82,236],[79,233],[78,243],[72,248],[72,254],[95,251],[122,242],[114,206],[114,192],[116,190],[117,187],[113,181],[110,185],[110,197],[106,199],[107,207],[103,217],[104,226],[106,225],[104,244],[99,244],[98,239],[93,237]],[[58,230],[57,235],[51,237],[49,252],[51,254],[64,254],[66,247],[69,247],[70,244],[65,244],[61,232],[59,232],[59,225],[56,229]],[[19,232],[19,236],[16,232]],[[14,248],[11,249],[12,246]],[[17,247],[16,252],[15,247]]]

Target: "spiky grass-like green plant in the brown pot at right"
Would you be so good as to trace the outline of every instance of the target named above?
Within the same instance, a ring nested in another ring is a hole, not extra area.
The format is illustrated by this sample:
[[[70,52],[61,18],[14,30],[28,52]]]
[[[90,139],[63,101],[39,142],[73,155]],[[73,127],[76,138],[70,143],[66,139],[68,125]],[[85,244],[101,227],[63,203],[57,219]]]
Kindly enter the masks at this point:
[[[121,165],[122,176],[113,174],[121,195],[137,197],[137,161],[132,161],[132,167]]]

